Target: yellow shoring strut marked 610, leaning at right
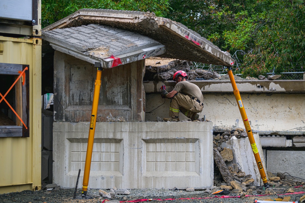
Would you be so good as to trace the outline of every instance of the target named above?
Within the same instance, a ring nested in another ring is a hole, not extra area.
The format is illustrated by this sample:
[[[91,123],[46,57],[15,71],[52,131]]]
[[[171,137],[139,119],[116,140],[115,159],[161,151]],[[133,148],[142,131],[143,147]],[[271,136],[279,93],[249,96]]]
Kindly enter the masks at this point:
[[[263,180],[264,188],[268,188],[269,184],[268,184],[268,181],[267,181],[264,166],[262,164],[262,161],[260,159],[260,155],[258,153],[258,149],[257,149],[256,143],[255,143],[254,137],[253,137],[253,133],[252,133],[249,121],[248,121],[248,117],[246,115],[246,111],[245,111],[244,105],[242,103],[242,98],[240,97],[239,90],[237,89],[236,82],[235,82],[231,67],[227,67],[227,68],[228,68],[228,75],[230,77],[230,81],[231,81],[231,84],[232,84],[232,87],[233,87],[233,93],[235,95],[240,114],[242,115],[242,121],[244,122],[246,132],[248,134],[248,138],[249,138],[249,141],[250,141],[250,144],[251,144],[251,147],[252,147],[252,151],[253,151],[256,163],[257,163],[257,167],[258,167],[259,172],[260,172],[260,177]]]

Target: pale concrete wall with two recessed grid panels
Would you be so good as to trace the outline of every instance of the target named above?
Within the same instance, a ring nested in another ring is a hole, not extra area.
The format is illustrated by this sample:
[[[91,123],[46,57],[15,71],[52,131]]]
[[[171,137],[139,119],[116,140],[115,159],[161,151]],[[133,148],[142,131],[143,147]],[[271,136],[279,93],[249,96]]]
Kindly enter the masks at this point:
[[[82,187],[88,122],[55,122],[53,183]],[[97,122],[89,188],[213,185],[212,122]]]

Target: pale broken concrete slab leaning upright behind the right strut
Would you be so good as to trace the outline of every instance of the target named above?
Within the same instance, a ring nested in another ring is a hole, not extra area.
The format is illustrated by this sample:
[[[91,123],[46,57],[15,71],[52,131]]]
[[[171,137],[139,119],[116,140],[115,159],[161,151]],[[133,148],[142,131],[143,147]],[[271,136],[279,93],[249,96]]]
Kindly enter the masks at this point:
[[[257,133],[254,133],[253,137],[258,149],[258,153],[260,154],[260,159],[264,166],[265,173],[267,175],[263,149],[260,143],[260,136]],[[242,171],[246,173],[246,175],[251,174],[252,178],[254,179],[254,184],[256,186],[260,186],[260,172],[248,137],[237,139],[235,136],[233,136],[228,142],[223,143],[223,147],[232,149],[234,158],[231,163],[238,164]]]

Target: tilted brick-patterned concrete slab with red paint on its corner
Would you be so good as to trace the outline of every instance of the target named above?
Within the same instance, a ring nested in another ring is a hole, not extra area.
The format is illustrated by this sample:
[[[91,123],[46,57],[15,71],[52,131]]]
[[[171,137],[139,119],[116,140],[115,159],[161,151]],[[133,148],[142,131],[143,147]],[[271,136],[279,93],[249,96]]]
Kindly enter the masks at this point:
[[[139,61],[165,51],[164,45],[149,37],[97,24],[48,30],[43,32],[43,37],[55,50],[98,63],[102,68]]]

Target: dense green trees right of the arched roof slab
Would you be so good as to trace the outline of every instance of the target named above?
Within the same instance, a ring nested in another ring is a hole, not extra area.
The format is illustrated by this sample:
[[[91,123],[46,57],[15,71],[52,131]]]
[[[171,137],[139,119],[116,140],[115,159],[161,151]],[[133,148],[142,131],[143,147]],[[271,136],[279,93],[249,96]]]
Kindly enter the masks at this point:
[[[167,17],[243,59],[244,75],[288,72],[304,66],[302,0],[170,0]],[[242,54],[246,53],[246,54]],[[242,54],[242,55],[240,55]]]

